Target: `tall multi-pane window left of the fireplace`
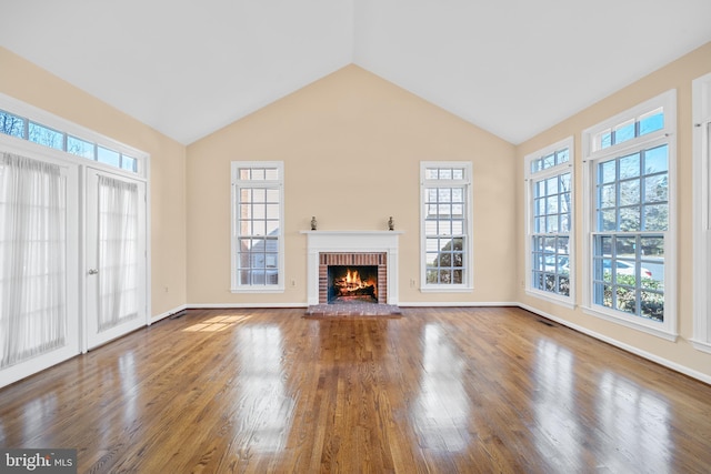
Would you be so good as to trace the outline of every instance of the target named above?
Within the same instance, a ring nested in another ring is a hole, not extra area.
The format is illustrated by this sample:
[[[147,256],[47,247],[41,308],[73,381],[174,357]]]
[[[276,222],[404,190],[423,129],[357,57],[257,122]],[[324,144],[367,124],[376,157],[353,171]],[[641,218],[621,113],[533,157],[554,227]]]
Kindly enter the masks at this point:
[[[283,290],[282,220],[282,162],[232,162],[232,291]]]

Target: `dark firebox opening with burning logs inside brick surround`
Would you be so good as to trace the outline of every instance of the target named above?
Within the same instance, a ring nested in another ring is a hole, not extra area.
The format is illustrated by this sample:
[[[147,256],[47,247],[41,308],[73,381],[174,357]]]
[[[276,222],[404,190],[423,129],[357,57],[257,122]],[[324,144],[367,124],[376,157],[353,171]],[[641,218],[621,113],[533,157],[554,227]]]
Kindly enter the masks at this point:
[[[378,265],[329,265],[331,303],[378,303]]]

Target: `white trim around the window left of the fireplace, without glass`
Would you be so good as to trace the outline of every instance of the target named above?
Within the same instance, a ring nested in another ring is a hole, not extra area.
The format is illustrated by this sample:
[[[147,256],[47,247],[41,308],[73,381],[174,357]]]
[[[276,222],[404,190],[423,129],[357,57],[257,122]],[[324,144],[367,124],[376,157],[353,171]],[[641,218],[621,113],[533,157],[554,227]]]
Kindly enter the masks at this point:
[[[237,273],[237,258],[239,249],[237,246],[237,200],[238,200],[238,172],[240,168],[277,168],[279,170],[279,180],[277,181],[256,181],[259,184],[273,184],[279,186],[279,269],[277,271],[277,284],[274,285],[243,285],[239,283]],[[284,163],[283,161],[232,161],[231,163],[231,225],[230,225],[230,273],[231,283],[230,291],[232,293],[283,293],[284,285]]]

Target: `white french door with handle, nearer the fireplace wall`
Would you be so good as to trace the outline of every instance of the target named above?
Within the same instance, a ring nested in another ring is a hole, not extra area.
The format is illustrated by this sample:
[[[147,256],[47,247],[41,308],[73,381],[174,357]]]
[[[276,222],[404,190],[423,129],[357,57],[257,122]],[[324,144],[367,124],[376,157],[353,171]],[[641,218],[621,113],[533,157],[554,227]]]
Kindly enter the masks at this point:
[[[146,183],[87,168],[86,349],[148,323]]]

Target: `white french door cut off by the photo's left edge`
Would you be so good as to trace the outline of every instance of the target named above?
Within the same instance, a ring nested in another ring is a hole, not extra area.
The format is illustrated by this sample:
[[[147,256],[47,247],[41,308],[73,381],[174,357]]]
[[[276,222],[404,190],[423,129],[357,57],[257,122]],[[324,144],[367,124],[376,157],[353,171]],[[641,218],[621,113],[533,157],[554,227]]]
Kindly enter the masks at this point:
[[[29,154],[0,143],[0,386],[79,354],[78,168]]]

